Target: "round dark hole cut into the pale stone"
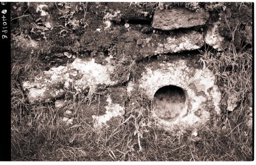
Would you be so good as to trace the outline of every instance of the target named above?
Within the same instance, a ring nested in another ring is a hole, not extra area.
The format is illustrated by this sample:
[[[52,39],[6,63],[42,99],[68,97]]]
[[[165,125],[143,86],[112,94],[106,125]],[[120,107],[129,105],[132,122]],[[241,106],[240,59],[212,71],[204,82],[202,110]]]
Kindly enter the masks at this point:
[[[186,96],[182,88],[164,86],[154,95],[155,114],[160,119],[174,119],[184,111],[185,101]]]

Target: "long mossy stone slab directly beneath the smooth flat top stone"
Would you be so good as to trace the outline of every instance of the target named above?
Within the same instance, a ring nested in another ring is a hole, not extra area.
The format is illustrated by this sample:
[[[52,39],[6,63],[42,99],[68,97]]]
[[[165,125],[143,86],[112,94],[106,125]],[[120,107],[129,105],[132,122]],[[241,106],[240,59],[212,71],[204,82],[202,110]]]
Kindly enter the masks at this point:
[[[133,29],[119,35],[115,42],[115,46],[110,49],[109,53],[113,57],[127,61],[143,59],[156,54],[195,50],[201,48],[204,43],[203,35],[191,30],[166,35],[143,34]],[[95,46],[99,47],[100,45],[95,44]]]

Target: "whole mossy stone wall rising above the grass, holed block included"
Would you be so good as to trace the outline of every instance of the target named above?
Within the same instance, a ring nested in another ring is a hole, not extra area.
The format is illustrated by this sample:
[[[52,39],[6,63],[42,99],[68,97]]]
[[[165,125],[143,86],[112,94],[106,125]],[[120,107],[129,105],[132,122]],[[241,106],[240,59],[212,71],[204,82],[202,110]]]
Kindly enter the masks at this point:
[[[21,56],[39,53],[47,65],[36,76],[21,80],[31,104],[55,102],[56,108],[67,109],[67,91],[102,95],[84,105],[96,128],[122,119],[136,108],[141,95],[153,102],[152,120],[166,130],[199,127],[221,114],[216,77],[200,65],[198,55],[205,45],[223,51],[232,42],[220,31],[223,6],[216,11],[198,3],[13,3],[12,7],[20,13],[27,9],[33,16],[12,24],[29,30],[14,35],[12,51],[22,49]],[[248,29],[247,22],[243,32],[251,36]],[[250,38],[244,41],[251,44]],[[99,103],[101,114],[96,114]]]

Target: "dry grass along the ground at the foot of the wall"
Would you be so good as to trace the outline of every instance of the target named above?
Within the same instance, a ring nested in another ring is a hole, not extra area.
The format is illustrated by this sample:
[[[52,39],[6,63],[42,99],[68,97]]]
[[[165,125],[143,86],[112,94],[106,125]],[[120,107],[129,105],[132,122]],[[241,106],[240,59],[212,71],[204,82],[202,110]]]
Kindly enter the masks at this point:
[[[20,87],[12,87],[12,160],[252,160],[252,128],[246,114],[239,119],[237,112],[223,115],[219,123],[197,130],[195,139],[190,130],[178,134],[157,128],[150,117],[153,107],[141,96],[124,119],[99,131],[81,113],[87,97],[69,93],[73,125],[62,122],[63,112],[53,104],[31,105]]]

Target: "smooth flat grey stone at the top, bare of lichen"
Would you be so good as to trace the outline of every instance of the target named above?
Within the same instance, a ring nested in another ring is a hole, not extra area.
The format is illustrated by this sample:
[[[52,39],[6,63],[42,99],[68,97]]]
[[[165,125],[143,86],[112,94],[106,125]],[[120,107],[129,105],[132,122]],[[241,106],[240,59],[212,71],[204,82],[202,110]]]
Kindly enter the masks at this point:
[[[203,25],[209,18],[209,13],[204,9],[191,12],[185,8],[156,10],[153,17],[153,28],[170,31],[179,28],[189,28]]]

